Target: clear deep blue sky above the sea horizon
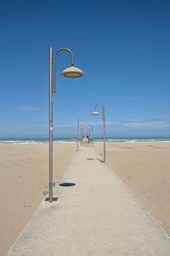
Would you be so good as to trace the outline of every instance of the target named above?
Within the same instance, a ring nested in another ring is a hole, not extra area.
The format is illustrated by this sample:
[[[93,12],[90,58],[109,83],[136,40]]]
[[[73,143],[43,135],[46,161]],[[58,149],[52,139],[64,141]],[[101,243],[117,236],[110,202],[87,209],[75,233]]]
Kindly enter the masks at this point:
[[[169,1],[0,1],[0,137],[48,137],[48,49],[67,47],[86,75],[64,79],[58,55],[54,137],[106,105],[108,137],[170,136]]]

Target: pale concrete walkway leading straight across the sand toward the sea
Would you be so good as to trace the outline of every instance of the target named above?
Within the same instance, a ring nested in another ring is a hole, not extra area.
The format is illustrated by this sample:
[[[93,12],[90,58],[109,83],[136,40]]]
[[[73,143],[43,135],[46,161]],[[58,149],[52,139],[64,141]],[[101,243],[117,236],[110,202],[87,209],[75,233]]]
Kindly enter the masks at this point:
[[[58,201],[42,201],[8,256],[170,255],[168,236],[93,148],[60,181],[76,185],[57,185]]]

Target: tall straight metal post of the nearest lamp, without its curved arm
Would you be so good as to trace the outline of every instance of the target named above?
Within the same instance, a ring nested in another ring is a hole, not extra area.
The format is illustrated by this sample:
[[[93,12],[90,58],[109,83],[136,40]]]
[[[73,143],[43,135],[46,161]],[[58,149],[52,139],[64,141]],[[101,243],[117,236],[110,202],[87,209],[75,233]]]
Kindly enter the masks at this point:
[[[53,201],[53,49],[49,48],[49,202]]]

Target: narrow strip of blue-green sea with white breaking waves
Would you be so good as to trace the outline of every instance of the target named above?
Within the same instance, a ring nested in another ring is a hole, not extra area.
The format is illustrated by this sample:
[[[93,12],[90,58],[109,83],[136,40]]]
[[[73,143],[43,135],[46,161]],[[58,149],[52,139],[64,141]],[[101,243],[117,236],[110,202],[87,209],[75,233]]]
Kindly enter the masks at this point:
[[[170,143],[170,137],[106,137],[108,143]],[[94,143],[103,142],[103,137],[94,137]],[[48,143],[48,138],[1,138],[0,144]],[[54,143],[77,143],[76,137],[54,137]]]

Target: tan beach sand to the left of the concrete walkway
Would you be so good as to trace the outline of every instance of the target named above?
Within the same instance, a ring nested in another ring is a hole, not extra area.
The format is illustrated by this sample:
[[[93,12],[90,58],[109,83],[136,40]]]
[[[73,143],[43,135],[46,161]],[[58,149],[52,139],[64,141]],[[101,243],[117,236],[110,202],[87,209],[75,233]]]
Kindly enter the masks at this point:
[[[54,143],[54,181],[76,144]],[[48,144],[0,144],[0,255],[6,255],[48,193]]]

